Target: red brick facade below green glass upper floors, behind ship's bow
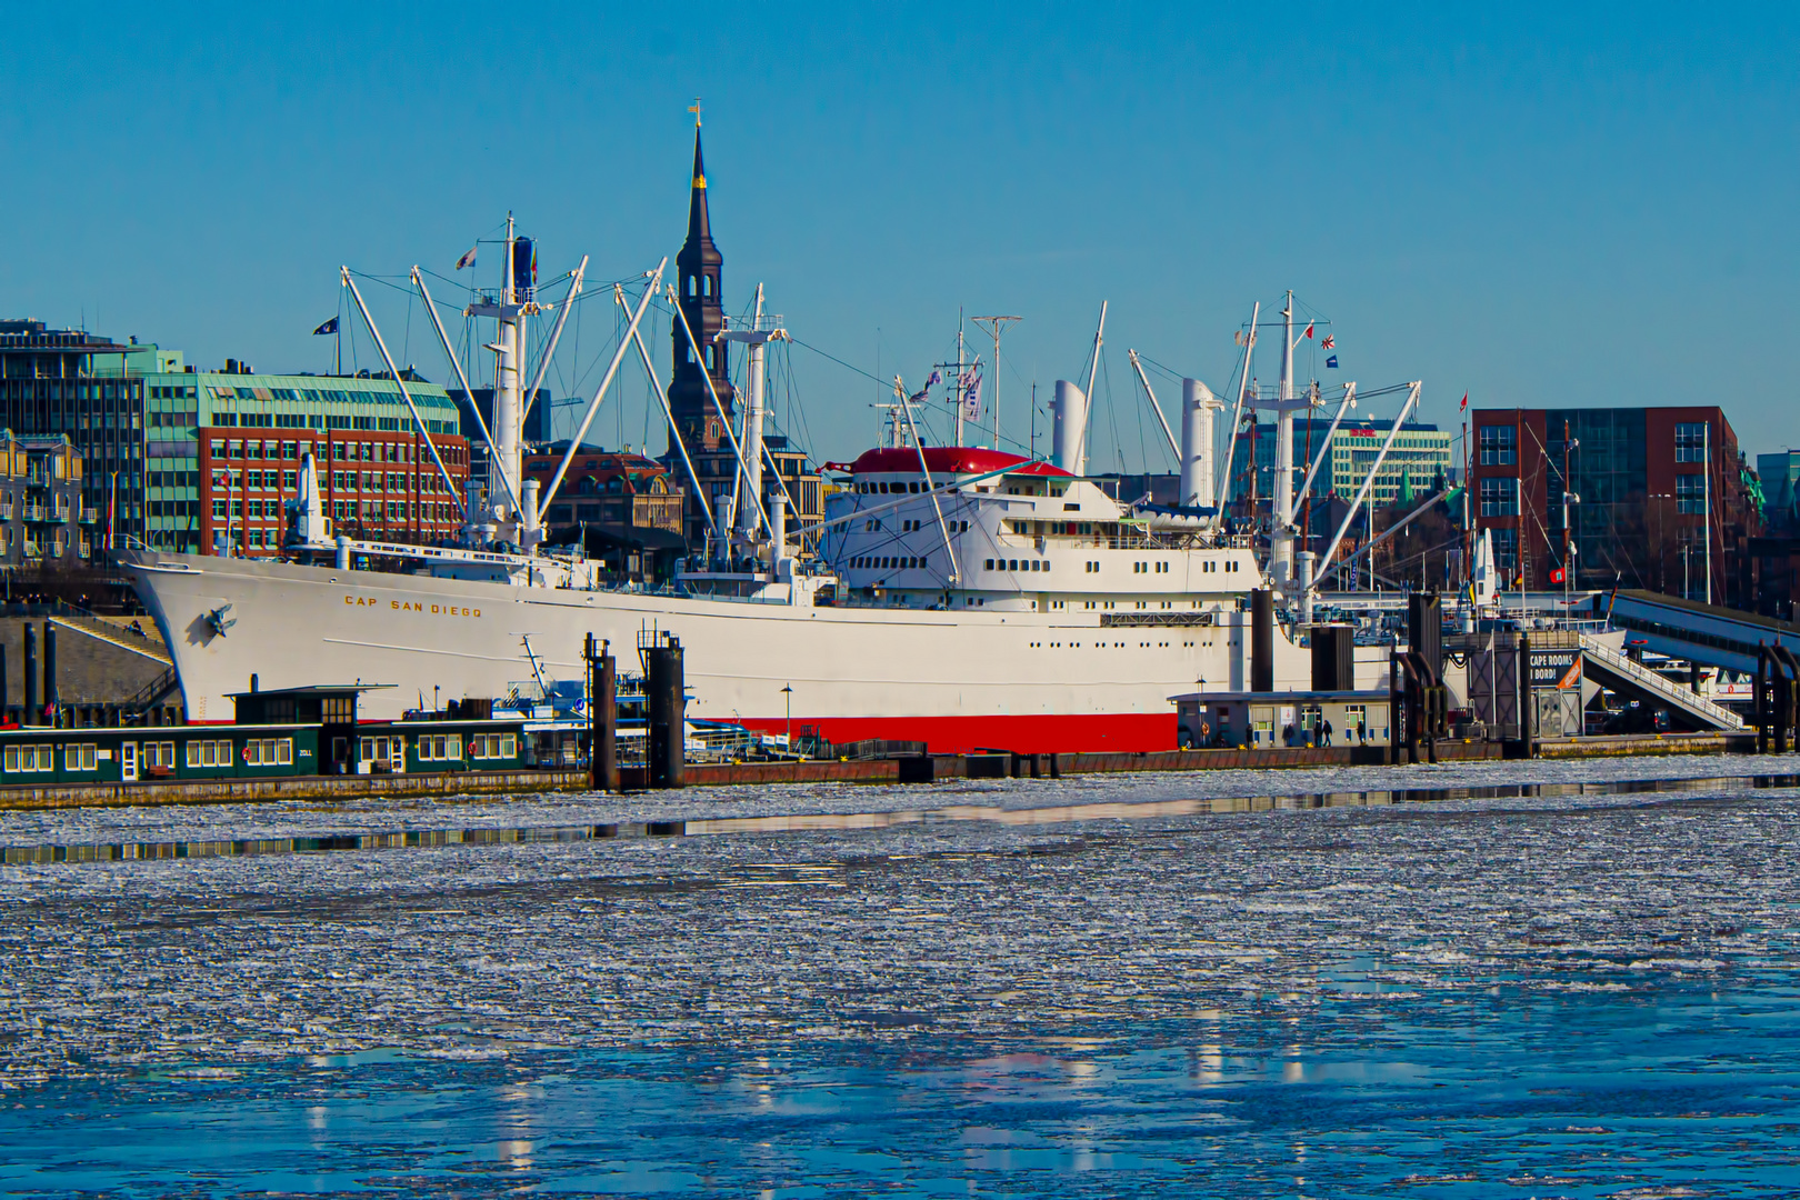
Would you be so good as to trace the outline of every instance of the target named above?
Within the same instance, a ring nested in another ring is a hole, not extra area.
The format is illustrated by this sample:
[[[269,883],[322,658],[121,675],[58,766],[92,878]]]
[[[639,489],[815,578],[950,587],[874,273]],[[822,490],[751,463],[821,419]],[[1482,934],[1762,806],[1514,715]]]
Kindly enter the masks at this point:
[[[428,545],[463,525],[461,497],[445,488],[419,434],[373,430],[202,428],[200,547],[274,558],[301,459],[317,461],[326,516],[353,538]],[[434,435],[459,493],[468,491],[468,439]]]

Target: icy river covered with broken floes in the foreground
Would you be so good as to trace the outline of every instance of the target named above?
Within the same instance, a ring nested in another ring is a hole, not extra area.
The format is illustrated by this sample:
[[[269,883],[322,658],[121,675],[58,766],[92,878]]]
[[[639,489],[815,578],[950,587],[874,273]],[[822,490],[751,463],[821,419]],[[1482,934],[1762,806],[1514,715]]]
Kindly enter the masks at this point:
[[[0,813],[0,1189],[1796,1195],[1796,766]]]

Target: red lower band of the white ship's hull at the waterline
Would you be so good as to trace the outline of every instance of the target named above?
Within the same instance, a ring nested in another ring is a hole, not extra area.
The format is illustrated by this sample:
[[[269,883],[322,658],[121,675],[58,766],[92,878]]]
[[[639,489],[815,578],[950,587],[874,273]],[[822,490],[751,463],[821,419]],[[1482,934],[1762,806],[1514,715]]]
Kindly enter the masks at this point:
[[[785,718],[738,721],[765,734],[783,734]],[[1067,716],[794,716],[796,738],[824,738],[835,745],[884,738],[923,741],[932,754],[1012,750],[1015,754],[1148,752],[1175,748],[1174,712],[1116,712]]]

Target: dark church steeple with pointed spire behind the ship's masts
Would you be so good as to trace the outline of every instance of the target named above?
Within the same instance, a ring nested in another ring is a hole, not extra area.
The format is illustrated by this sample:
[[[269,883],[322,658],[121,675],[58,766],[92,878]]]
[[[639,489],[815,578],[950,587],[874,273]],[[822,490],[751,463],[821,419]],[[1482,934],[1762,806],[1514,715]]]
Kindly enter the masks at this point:
[[[693,336],[700,344],[700,356],[695,358],[688,344],[688,331],[675,322],[673,351],[675,371],[670,374],[670,412],[675,416],[675,428],[691,453],[716,452],[729,446],[725,432],[720,428],[718,408],[706,387],[706,374],[713,376],[713,390],[725,416],[736,412],[736,392],[731,387],[731,363],[725,342],[713,336],[725,324],[725,306],[720,291],[720,268],[724,255],[713,245],[713,228],[706,210],[706,164],[700,158],[700,113],[695,106],[693,121],[693,185],[688,193],[688,241],[675,255],[675,277],[680,291],[680,308],[693,327]],[[706,372],[706,374],[702,374]],[[673,441],[673,439],[671,439]],[[673,452],[675,446],[671,444]]]

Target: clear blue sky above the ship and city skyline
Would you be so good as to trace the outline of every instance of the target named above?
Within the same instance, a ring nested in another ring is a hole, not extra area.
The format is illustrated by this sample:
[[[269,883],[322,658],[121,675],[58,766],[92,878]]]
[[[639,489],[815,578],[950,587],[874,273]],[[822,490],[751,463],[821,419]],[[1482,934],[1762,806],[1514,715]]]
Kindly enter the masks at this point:
[[[1791,9],[1010,7],[11,13],[0,311],[322,369],[340,263],[448,275],[508,209],[545,275],[632,275],[680,243],[702,95],[731,308],[761,281],[797,338],[909,381],[959,306],[1019,313],[1024,441],[1105,299],[1096,468],[1166,466],[1127,347],[1222,390],[1283,288],[1332,320],[1319,374],[1420,378],[1426,419],[1465,389],[1717,401],[1750,453],[1800,444]],[[371,299],[445,380],[419,311]],[[598,381],[605,309],[558,394]],[[790,372],[815,455],[875,439],[875,381],[803,349]],[[594,437],[661,452],[625,380]]]

